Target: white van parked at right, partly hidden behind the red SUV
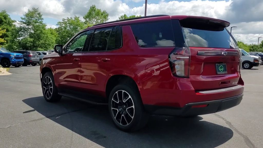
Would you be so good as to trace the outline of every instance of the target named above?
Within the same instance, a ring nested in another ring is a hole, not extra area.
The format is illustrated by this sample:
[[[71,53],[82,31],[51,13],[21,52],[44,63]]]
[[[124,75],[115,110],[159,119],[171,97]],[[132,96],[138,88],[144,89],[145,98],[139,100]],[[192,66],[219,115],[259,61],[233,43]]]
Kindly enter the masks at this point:
[[[257,56],[251,56],[245,50],[240,49],[242,52],[242,67],[244,69],[251,69],[253,66],[259,66],[261,60]]]

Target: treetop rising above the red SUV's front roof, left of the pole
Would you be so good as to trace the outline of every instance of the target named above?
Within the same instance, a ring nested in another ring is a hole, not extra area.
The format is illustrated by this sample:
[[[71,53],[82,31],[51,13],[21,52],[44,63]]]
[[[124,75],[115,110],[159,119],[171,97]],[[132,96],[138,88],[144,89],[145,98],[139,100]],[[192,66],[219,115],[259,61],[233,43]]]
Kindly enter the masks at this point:
[[[90,6],[87,14],[84,15],[85,24],[93,26],[94,24],[104,23],[109,20],[109,13],[105,10],[96,8],[95,5]]]

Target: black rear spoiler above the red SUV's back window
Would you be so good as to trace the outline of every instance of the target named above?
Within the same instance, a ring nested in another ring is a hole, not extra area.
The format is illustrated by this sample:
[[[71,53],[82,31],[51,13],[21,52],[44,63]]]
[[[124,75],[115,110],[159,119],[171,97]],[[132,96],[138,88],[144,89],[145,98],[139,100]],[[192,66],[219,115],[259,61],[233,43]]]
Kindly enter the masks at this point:
[[[172,16],[173,19],[173,16]],[[198,17],[198,16],[180,16],[179,17],[181,24],[191,24],[191,23],[205,23],[213,24],[221,27],[228,27],[230,23],[221,19],[209,18],[209,17]]]

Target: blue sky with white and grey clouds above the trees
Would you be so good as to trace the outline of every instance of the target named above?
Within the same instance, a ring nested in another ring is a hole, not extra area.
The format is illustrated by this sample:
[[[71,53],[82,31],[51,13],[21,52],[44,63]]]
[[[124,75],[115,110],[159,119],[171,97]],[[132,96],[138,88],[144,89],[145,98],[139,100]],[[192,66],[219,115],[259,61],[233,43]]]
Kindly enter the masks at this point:
[[[0,0],[14,20],[21,20],[27,9],[38,7],[47,27],[55,28],[62,18],[82,18],[93,4],[109,13],[109,21],[123,14],[144,16],[145,0]],[[147,15],[191,15],[223,19],[231,23],[236,40],[257,44],[263,37],[263,0],[148,0]],[[229,28],[230,30],[230,28]]]

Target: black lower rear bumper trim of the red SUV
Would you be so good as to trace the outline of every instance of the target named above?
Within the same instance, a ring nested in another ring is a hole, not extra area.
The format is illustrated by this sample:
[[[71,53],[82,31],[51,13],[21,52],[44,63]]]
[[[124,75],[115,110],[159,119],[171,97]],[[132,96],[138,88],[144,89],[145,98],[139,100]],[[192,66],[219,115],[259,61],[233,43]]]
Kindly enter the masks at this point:
[[[155,106],[144,105],[147,112],[157,115],[171,115],[171,116],[195,116],[211,114],[219,111],[226,110],[228,108],[239,105],[243,97],[243,94],[224,98],[214,101],[195,102],[188,103],[183,108],[168,107],[168,106]],[[207,105],[206,107],[198,107],[198,105]]]

